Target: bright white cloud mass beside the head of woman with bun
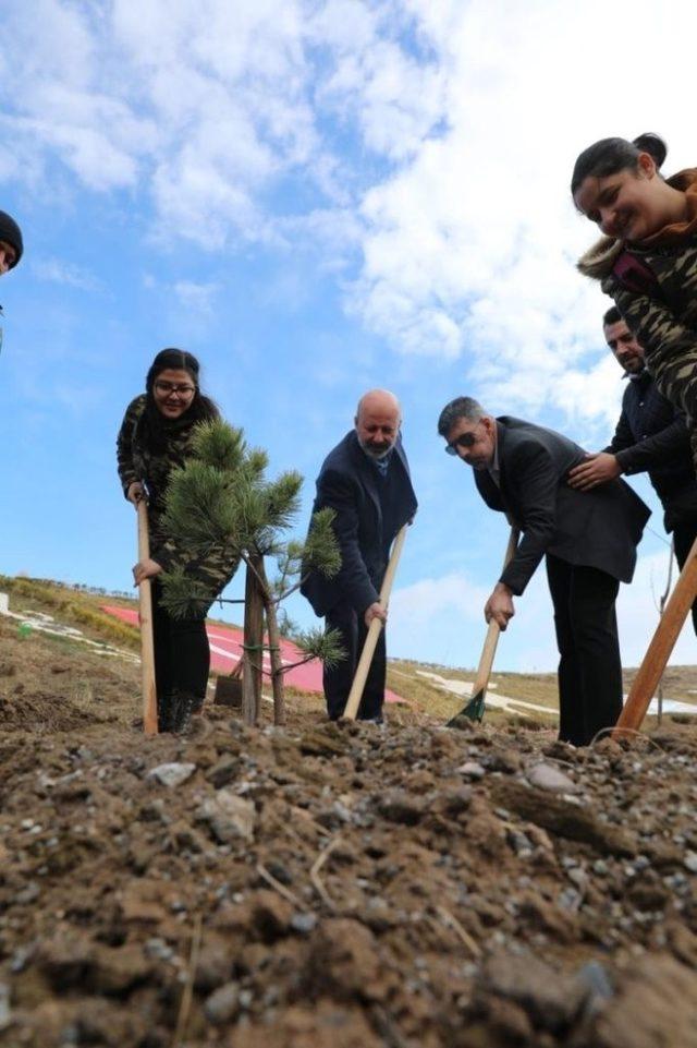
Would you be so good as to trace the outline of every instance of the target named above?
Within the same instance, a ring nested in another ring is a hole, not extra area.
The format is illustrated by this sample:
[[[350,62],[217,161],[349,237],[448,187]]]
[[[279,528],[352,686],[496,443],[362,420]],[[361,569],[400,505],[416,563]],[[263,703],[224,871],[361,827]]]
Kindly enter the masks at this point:
[[[594,67],[594,57],[604,61],[598,25],[604,39],[623,40],[624,53],[640,53],[664,32],[648,4],[407,7],[438,56],[442,130],[366,192],[351,306],[399,351],[462,354],[473,392],[501,407],[610,419],[616,377],[599,333],[608,302],[574,269],[594,229],[573,210],[571,167],[595,138],[645,124],[667,135],[672,125],[695,162],[687,115],[675,119],[676,99],[667,113],[657,91],[669,65],[689,64],[689,40],[663,58],[653,48],[659,69],[634,77],[609,107],[604,67]],[[423,112],[436,120],[428,95]]]

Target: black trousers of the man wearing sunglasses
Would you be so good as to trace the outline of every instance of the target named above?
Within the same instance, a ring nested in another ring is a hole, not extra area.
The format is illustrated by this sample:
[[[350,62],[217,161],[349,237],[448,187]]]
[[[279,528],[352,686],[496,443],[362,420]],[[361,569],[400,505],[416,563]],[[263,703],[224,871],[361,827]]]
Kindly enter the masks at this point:
[[[587,746],[622,712],[622,662],[614,602],[620,583],[598,568],[547,555],[559,648],[559,737]]]

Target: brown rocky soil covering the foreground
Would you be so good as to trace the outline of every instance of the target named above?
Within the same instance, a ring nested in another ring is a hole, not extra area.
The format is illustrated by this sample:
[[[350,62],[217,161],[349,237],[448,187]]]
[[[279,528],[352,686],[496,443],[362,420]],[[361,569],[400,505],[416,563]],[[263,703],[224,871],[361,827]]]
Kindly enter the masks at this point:
[[[688,725],[147,739],[137,667],[2,629],[1,1048],[697,1046]]]

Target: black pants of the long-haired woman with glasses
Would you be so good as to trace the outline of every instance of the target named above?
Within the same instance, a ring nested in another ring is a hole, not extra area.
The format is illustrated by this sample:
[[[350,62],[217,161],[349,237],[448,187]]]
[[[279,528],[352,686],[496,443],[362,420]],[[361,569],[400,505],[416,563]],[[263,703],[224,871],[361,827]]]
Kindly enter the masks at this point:
[[[206,698],[210,647],[204,618],[172,618],[160,604],[162,587],[152,585],[152,639],[158,710],[174,691],[194,697],[198,712]]]

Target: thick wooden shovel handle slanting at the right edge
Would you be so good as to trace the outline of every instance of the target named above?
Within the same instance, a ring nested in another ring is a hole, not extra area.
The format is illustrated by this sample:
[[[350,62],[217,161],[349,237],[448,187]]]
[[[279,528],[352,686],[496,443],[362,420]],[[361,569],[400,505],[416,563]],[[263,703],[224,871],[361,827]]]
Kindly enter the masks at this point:
[[[695,598],[697,598],[697,539],[687,555],[675,589],[668,599],[651,643],[634,678],[627,701],[612,733],[613,738],[620,738],[624,728],[638,731],[641,726]]]

